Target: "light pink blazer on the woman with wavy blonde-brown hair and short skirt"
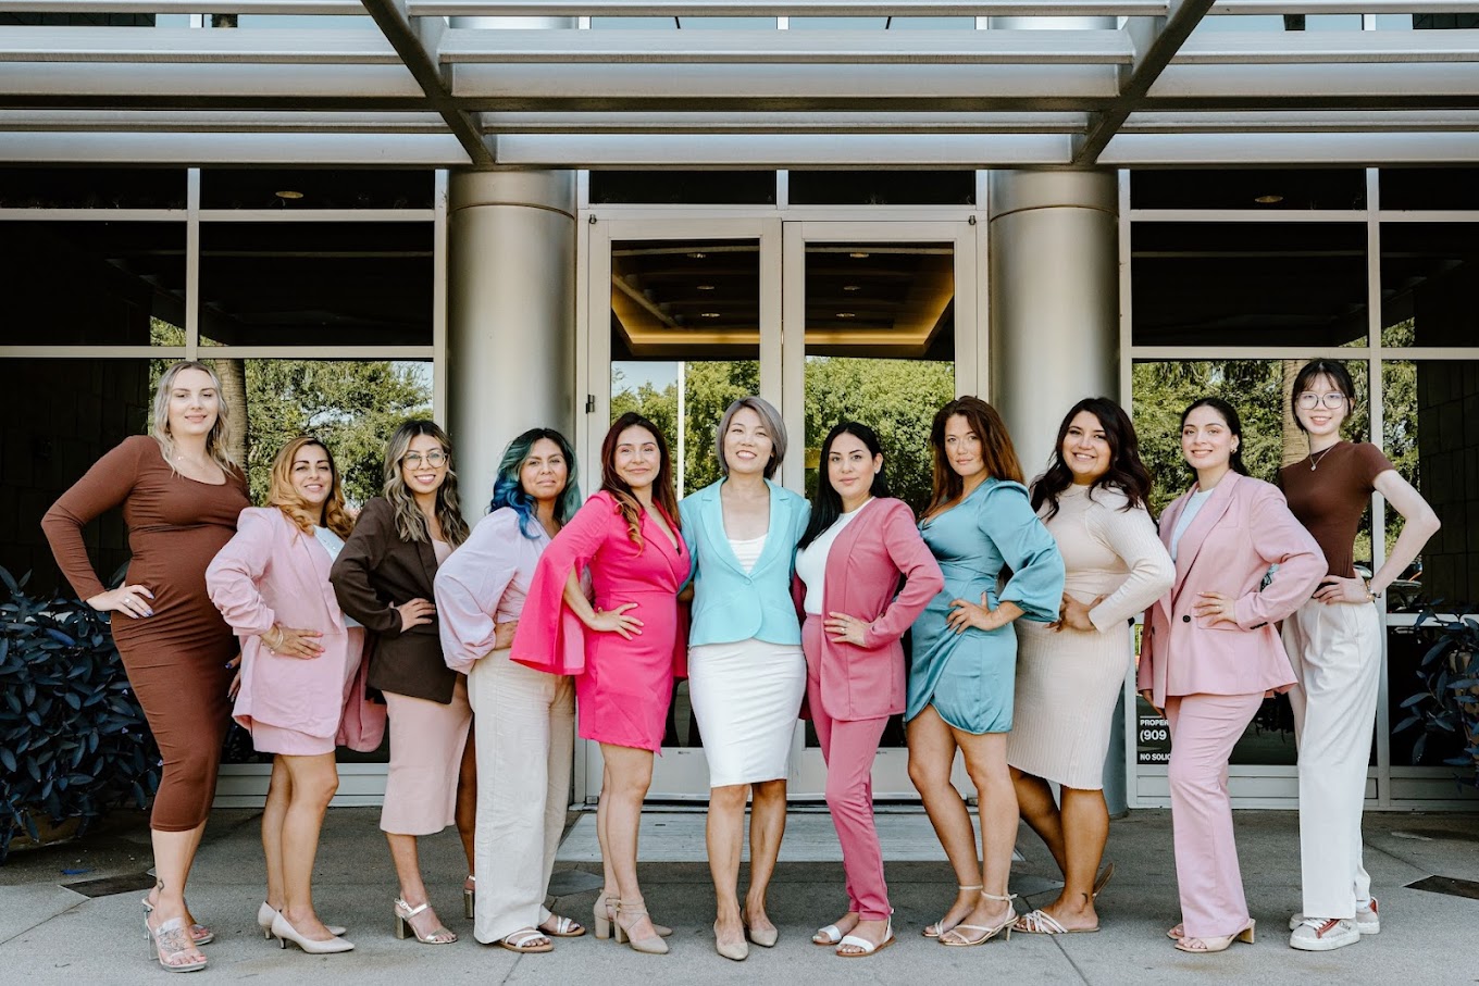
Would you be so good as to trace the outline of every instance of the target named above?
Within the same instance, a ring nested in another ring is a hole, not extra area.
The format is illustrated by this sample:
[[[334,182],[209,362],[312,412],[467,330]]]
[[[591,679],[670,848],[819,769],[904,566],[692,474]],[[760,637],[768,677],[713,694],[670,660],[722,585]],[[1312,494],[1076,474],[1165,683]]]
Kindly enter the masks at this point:
[[[237,535],[206,569],[206,591],[241,637],[241,690],[234,718],[246,729],[260,720],[311,736],[334,736],[370,751],[385,736],[385,707],[364,701],[368,661],[361,659],[364,630],[346,628],[334,588],[333,560],[311,534],[277,507],[247,507]],[[324,653],[284,658],[262,645],[272,624],[319,630]],[[349,701],[345,671],[358,662]]]

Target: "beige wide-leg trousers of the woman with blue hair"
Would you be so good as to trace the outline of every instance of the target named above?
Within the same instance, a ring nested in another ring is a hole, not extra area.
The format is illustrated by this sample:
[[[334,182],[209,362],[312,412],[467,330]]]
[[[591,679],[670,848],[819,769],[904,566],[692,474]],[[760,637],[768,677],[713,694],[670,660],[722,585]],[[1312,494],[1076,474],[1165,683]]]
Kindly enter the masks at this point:
[[[473,936],[493,945],[550,917],[544,906],[569,807],[575,684],[494,650],[467,674],[478,749]]]

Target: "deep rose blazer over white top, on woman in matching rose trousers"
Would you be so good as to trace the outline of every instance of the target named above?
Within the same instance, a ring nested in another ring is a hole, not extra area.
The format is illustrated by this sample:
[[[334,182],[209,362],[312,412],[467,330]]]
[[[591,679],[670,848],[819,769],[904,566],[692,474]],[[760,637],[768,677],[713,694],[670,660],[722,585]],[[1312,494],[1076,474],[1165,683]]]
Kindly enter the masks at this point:
[[[899,575],[908,579],[902,591]],[[828,715],[849,721],[904,711],[899,637],[944,587],[939,563],[902,500],[876,500],[843,528],[827,553],[822,615],[839,612],[870,622],[861,647],[833,643],[824,633],[821,653],[806,655],[808,662],[821,665],[821,699]]]

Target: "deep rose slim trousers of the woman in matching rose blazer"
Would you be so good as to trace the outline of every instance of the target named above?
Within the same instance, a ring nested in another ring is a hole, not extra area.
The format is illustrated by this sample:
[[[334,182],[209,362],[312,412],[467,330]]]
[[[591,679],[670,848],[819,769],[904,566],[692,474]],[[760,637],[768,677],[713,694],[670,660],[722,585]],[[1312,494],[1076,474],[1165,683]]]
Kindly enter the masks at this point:
[[[889,885],[883,881],[883,849],[873,825],[873,758],[889,717],[840,720],[827,714],[815,659],[821,633],[821,618],[808,616],[802,628],[802,649],[808,656],[806,704],[827,763],[827,809],[842,843],[847,909],[856,911],[864,921],[886,921],[893,909]]]

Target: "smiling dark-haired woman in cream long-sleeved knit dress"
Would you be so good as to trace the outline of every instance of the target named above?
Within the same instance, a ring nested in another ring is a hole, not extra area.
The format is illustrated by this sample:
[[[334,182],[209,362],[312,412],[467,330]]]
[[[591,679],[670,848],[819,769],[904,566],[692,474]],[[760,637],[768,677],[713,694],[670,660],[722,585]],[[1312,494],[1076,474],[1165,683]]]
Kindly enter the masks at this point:
[[[1120,405],[1080,401],[1032,485],[1032,506],[1057,541],[1068,577],[1056,624],[1016,622],[1018,711],[1007,764],[1022,817],[1063,871],[1063,890],[1023,915],[1018,931],[1099,928],[1094,874],[1109,837],[1102,775],[1130,667],[1130,621],[1176,577],[1146,511],[1151,475],[1137,446]],[[1049,781],[1062,785],[1062,807]]]

